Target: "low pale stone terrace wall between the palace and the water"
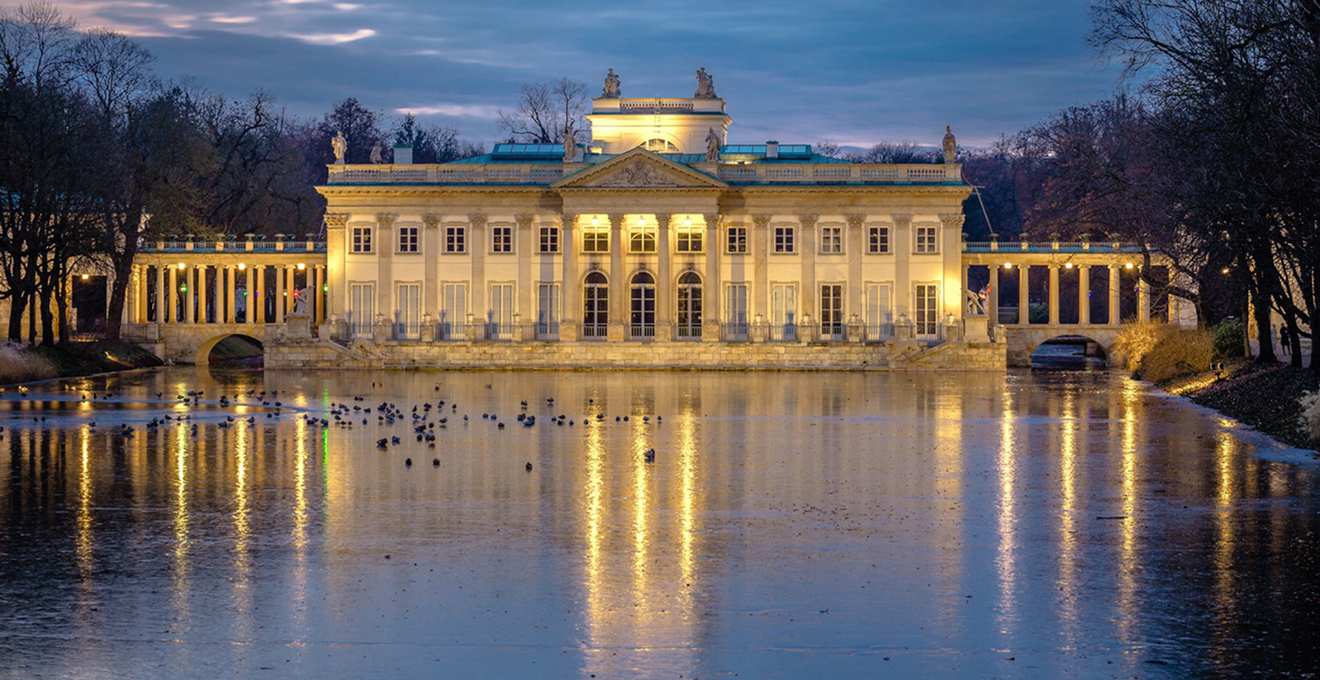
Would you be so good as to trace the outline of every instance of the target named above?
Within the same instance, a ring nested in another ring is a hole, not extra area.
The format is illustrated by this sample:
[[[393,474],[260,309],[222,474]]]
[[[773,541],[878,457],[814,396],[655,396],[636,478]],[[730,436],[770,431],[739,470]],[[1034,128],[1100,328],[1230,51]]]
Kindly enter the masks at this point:
[[[649,342],[381,342],[343,347],[329,341],[273,342],[267,368],[678,368],[678,370],[935,370],[1002,371],[1005,345],[946,342],[936,347],[863,343]]]

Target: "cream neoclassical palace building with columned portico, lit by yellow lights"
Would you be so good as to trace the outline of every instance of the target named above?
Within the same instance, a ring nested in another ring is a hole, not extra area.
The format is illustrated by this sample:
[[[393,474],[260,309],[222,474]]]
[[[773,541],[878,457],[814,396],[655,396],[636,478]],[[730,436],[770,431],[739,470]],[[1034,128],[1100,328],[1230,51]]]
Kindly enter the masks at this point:
[[[568,149],[331,165],[330,335],[939,342],[957,327],[960,165],[727,144],[715,96],[593,104],[594,141]]]

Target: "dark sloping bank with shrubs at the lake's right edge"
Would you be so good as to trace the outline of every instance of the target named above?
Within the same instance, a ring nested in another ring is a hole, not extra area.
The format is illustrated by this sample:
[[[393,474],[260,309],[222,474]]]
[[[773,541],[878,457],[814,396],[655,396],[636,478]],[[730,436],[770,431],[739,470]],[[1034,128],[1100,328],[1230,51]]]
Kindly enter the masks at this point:
[[[1214,371],[1180,375],[1156,383],[1164,391],[1183,395],[1290,446],[1315,449],[1303,432],[1298,400],[1303,391],[1316,391],[1309,370],[1287,364],[1262,364],[1250,359],[1225,362],[1221,376]]]

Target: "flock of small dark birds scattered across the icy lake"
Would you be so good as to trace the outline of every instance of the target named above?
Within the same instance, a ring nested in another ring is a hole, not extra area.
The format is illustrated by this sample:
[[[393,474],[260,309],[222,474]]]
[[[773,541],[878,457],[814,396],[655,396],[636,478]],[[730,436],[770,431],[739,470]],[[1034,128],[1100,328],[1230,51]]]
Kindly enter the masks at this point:
[[[372,383],[372,387],[376,387],[376,383]],[[491,386],[487,384],[486,388],[490,390]],[[73,386],[65,386],[65,390],[74,391],[77,388]],[[20,393],[26,393],[26,391],[28,391],[26,387],[20,387]],[[438,383],[436,384],[436,391],[440,391]],[[201,390],[187,391],[186,393],[177,395],[174,397],[174,403],[182,404],[183,407],[202,407],[203,404],[202,397],[205,395],[206,393]],[[234,393],[232,400],[230,399],[228,395],[220,395],[219,399],[214,403],[214,405],[218,407],[260,405],[263,408],[267,408],[265,417],[276,419],[285,412],[284,404],[279,400],[279,395],[280,392],[277,390],[271,390],[269,392],[264,390],[263,391],[248,390],[247,392]],[[0,390],[0,396],[3,396],[3,390]],[[104,395],[99,392],[82,393],[83,401],[111,400],[114,397],[115,395],[112,392],[106,392]],[[165,399],[165,393],[156,392],[156,399],[161,400]],[[466,426],[469,424],[469,416],[466,413],[459,416],[458,404],[446,401],[445,399],[440,399],[434,404],[432,404],[430,401],[425,401],[420,405],[413,405],[409,412],[405,412],[403,408],[397,407],[392,401],[381,401],[374,407],[364,405],[366,399],[367,399],[366,396],[354,396],[352,397],[354,403],[351,404],[331,401],[330,417],[321,417],[314,413],[304,413],[302,420],[313,426],[322,426],[322,428],[335,426],[341,429],[352,429],[355,424],[359,424],[359,420],[360,425],[370,425],[372,423],[371,416],[375,415],[375,424],[378,426],[392,426],[405,423],[411,424],[412,436],[416,437],[417,442],[424,442],[429,449],[436,448],[436,432],[447,429],[450,424],[449,423],[450,417],[455,419],[454,421],[455,425],[461,424]],[[244,400],[247,400],[248,403],[244,404]],[[546,408],[554,408],[554,397],[546,397],[545,404]],[[207,403],[207,405],[211,405],[211,403]],[[537,420],[536,415],[527,412],[529,408],[528,401],[523,400],[520,405],[521,405],[521,412],[516,415],[513,421],[521,425],[523,428],[535,428]],[[594,407],[595,400],[587,399],[587,405]],[[459,417],[462,417],[462,420],[458,420]],[[496,430],[503,430],[506,428],[506,421],[500,420],[498,413],[486,412],[482,413],[480,417],[482,420],[495,424]],[[33,421],[44,421],[44,420],[46,420],[45,416],[33,417]],[[628,420],[630,416],[614,416],[615,423],[626,423]],[[248,424],[256,424],[256,416],[248,416],[247,419],[242,416],[236,419],[234,416],[226,416],[226,419],[220,421],[216,426],[224,429],[240,421],[246,421]],[[564,413],[552,415],[549,417],[549,421],[553,423],[556,426],[569,426],[569,428],[577,424],[574,419],[569,419]],[[597,412],[595,415],[587,415],[582,417],[582,424],[587,424],[590,421],[598,424],[605,423],[606,415],[603,412]],[[651,416],[643,416],[642,421],[651,423],[652,420]],[[664,419],[661,416],[655,417],[656,424],[660,424],[663,421]],[[194,437],[198,434],[199,424],[194,421],[193,413],[174,413],[174,415],[166,413],[164,416],[157,416],[147,421],[145,428],[147,430],[156,430],[161,426],[166,426],[170,424],[180,426],[190,424],[191,434]],[[96,421],[90,421],[88,428],[96,429]],[[3,438],[3,433],[4,428],[0,426],[0,438]],[[117,426],[117,433],[123,437],[132,437],[136,433],[136,428],[127,423],[123,423]],[[400,444],[403,444],[403,438],[397,434],[380,437],[379,440],[376,440],[376,448],[380,450],[388,450],[391,446],[397,446]],[[645,462],[655,462],[656,450],[648,449],[642,456]],[[412,465],[413,461],[411,457],[404,459],[405,467],[412,467]],[[440,467],[440,458],[432,458],[432,466]],[[532,471],[533,466],[531,461],[527,462],[525,469],[527,471]]]

